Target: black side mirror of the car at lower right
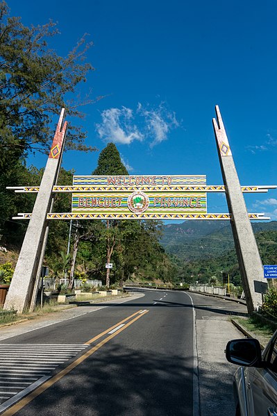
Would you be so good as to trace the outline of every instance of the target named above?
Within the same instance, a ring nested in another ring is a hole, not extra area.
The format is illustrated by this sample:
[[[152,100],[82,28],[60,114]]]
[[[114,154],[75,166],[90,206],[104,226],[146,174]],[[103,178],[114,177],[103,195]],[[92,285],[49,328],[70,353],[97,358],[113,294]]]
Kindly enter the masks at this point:
[[[260,342],[255,338],[241,338],[229,341],[226,345],[226,358],[229,363],[246,367],[260,367],[262,350]]]

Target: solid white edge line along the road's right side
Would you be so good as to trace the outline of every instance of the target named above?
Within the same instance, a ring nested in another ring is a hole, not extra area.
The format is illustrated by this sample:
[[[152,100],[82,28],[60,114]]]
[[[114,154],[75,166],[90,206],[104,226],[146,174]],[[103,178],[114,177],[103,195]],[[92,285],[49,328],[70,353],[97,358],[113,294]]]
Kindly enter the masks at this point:
[[[196,337],[196,314],[192,297],[187,292],[184,292],[190,298],[192,302],[192,339],[193,339],[193,378],[192,378],[192,403],[193,403],[193,416],[199,416],[200,413],[200,385],[199,385],[199,360],[197,351],[197,337]]]

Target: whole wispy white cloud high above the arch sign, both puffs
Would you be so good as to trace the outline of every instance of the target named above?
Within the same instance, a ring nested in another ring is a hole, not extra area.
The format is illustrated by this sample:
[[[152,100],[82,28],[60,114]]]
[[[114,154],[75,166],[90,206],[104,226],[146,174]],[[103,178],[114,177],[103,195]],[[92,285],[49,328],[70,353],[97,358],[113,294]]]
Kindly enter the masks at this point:
[[[180,125],[165,103],[157,108],[138,103],[135,111],[126,107],[110,108],[103,110],[101,118],[101,124],[96,124],[101,139],[119,144],[149,140],[150,147],[167,140],[169,132]]]

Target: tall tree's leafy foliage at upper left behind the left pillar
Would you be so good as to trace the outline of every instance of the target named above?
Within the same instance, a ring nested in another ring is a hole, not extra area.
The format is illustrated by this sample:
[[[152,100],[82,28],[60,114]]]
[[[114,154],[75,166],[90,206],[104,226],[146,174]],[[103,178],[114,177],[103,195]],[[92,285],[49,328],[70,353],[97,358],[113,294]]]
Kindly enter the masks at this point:
[[[6,2],[0,1],[0,234],[4,244],[21,242],[26,226],[11,222],[11,217],[31,212],[34,202],[33,196],[14,194],[6,187],[40,184],[42,171],[27,169],[26,156],[30,151],[49,152],[53,120],[56,124],[62,107],[73,122],[83,118],[78,104],[84,101],[70,101],[70,97],[93,69],[85,60],[92,43],[84,36],[62,57],[47,44],[56,35],[55,23],[26,27],[20,17],[10,17]],[[83,128],[73,122],[67,129],[67,149],[94,150],[85,145]]]

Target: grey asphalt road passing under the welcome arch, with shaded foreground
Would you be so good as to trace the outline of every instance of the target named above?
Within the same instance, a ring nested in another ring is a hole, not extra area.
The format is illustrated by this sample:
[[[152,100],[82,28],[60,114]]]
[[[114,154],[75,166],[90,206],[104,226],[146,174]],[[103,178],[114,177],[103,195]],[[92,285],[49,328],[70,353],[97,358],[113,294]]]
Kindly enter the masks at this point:
[[[219,363],[222,357],[215,356],[215,337],[205,330],[213,328],[222,338],[220,324],[225,332],[226,326],[235,331],[226,317],[245,313],[246,308],[197,294],[142,292],[142,297],[126,303],[94,303],[87,306],[89,313],[84,306],[80,308],[84,315],[78,317],[75,311],[67,311],[71,319],[21,335],[12,329],[4,331],[1,414],[231,415],[234,369],[227,365],[226,375]],[[224,334],[227,340],[233,335],[230,332]],[[215,386],[219,400],[209,406]],[[231,413],[221,413],[224,389]],[[23,399],[18,401],[20,395]]]

